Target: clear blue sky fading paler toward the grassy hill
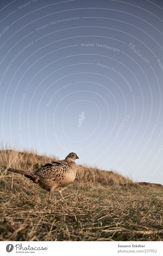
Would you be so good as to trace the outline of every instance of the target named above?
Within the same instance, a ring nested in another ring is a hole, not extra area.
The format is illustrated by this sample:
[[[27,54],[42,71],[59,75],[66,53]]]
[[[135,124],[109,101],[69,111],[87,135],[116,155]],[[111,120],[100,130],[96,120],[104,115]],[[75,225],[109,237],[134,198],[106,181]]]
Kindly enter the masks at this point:
[[[159,0],[1,1],[2,139],[163,184],[162,17]]]

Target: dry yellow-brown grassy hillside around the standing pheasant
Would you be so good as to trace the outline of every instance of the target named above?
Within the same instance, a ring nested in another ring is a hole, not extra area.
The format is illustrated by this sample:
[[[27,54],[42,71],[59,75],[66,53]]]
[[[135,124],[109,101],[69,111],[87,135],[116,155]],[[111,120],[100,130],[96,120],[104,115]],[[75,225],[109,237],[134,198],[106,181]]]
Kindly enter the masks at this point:
[[[35,171],[55,157],[0,151],[0,166]],[[78,166],[65,200],[1,169],[0,233],[5,241],[162,241],[163,189],[116,172]]]

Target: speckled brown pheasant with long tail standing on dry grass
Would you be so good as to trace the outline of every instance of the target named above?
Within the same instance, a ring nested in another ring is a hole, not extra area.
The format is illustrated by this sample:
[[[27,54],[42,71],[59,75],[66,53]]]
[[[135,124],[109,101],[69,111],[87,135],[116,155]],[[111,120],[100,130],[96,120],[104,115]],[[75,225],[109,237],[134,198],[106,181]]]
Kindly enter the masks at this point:
[[[57,160],[51,163],[45,163],[44,166],[35,172],[23,171],[13,168],[7,168],[8,171],[23,174],[25,177],[31,179],[34,183],[49,191],[49,201],[51,200],[51,193],[56,189],[60,196],[62,190],[71,184],[77,178],[77,165],[75,160],[79,159],[76,153],[69,153],[64,160]]]

